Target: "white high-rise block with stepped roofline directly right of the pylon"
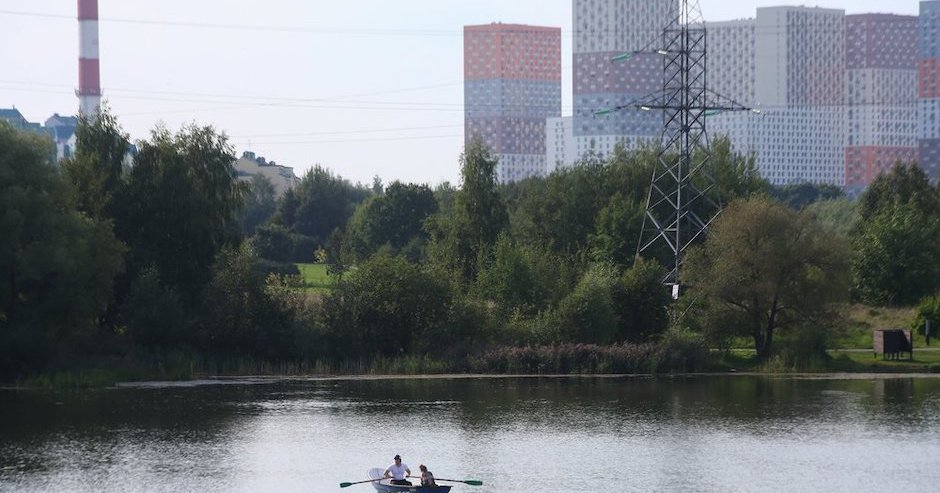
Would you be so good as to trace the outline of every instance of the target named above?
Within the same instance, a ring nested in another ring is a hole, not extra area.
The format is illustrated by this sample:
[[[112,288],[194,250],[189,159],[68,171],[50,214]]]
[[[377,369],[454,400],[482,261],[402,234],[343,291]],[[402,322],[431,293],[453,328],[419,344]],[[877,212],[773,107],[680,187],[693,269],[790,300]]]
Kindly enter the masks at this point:
[[[710,133],[727,134],[738,152],[755,153],[761,175],[773,184],[841,186],[846,142],[844,11],[767,7],[757,9],[753,20],[716,24],[719,42],[709,42],[711,88],[728,91],[726,96],[763,114],[718,115],[709,120]],[[743,42],[721,41],[734,37]],[[742,60],[741,67],[753,64],[753,98],[748,99],[750,83],[735,80],[751,72],[716,66],[713,60]]]

